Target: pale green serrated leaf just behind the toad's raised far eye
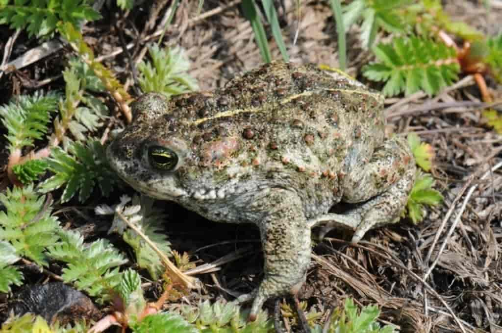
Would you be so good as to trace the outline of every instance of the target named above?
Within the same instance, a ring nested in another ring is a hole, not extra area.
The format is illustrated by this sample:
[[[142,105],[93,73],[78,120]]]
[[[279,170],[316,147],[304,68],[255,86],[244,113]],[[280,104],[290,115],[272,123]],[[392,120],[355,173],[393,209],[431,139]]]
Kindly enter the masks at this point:
[[[183,49],[164,50],[153,45],[149,51],[152,62],[138,64],[143,92],[159,92],[170,97],[198,89],[195,80],[186,73],[190,62],[185,58]]]

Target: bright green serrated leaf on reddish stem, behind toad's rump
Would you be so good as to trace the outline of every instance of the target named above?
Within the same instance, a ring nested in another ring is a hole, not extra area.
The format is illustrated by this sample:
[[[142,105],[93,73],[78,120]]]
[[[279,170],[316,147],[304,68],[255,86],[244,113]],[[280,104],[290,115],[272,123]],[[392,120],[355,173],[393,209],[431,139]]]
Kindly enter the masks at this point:
[[[457,79],[460,66],[455,50],[443,43],[411,37],[395,38],[393,44],[373,47],[379,63],[364,66],[363,75],[373,81],[387,81],[383,92],[410,95],[423,89],[429,95]]]

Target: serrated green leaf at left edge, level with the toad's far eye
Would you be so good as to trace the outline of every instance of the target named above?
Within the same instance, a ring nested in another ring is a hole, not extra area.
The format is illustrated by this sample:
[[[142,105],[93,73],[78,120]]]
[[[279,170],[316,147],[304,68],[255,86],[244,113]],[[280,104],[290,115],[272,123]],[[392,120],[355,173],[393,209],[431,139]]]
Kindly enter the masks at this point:
[[[1,10],[0,10],[1,12]],[[33,96],[21,95],[9,104],[0,106],[0,117],[7,128],[11,153],[15,149],[32,146],[47,132],[51,112],[56,111],[59,96],[55,93]]]

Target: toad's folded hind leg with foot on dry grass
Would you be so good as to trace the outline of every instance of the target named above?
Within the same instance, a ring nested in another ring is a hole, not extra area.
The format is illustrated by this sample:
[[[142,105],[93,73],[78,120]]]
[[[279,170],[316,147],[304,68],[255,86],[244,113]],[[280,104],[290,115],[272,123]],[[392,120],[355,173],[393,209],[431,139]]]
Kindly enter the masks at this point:
[[[362,162],[360,164],[363,164]],[[368,163],[353,168],[343,182],[343,202],[362,203],[343,214],[327,214],[309,221],[309,225],[331,220],[320,231],[321,238],[329,230],[345,225],[355,227],[352,242],[366,231],[396,223],[406,207],[415,182],[415,161],[406,139],[390,138],[376,147]]]

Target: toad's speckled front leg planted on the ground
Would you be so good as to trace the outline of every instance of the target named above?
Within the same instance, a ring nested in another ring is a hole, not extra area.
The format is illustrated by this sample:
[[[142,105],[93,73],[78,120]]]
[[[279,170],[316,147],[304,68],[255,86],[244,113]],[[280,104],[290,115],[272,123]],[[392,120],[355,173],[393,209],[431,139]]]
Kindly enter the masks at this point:
[[[258,289],[239,297],[255,296],[249,320],[255,320],[263,303],[271,297],[296,294],[305,282],[310,263],[310,228],[298,195],[284,189],[272,189],[270,195],[255,203],[266,208],[258,221],[265,258],[265,277]]]

